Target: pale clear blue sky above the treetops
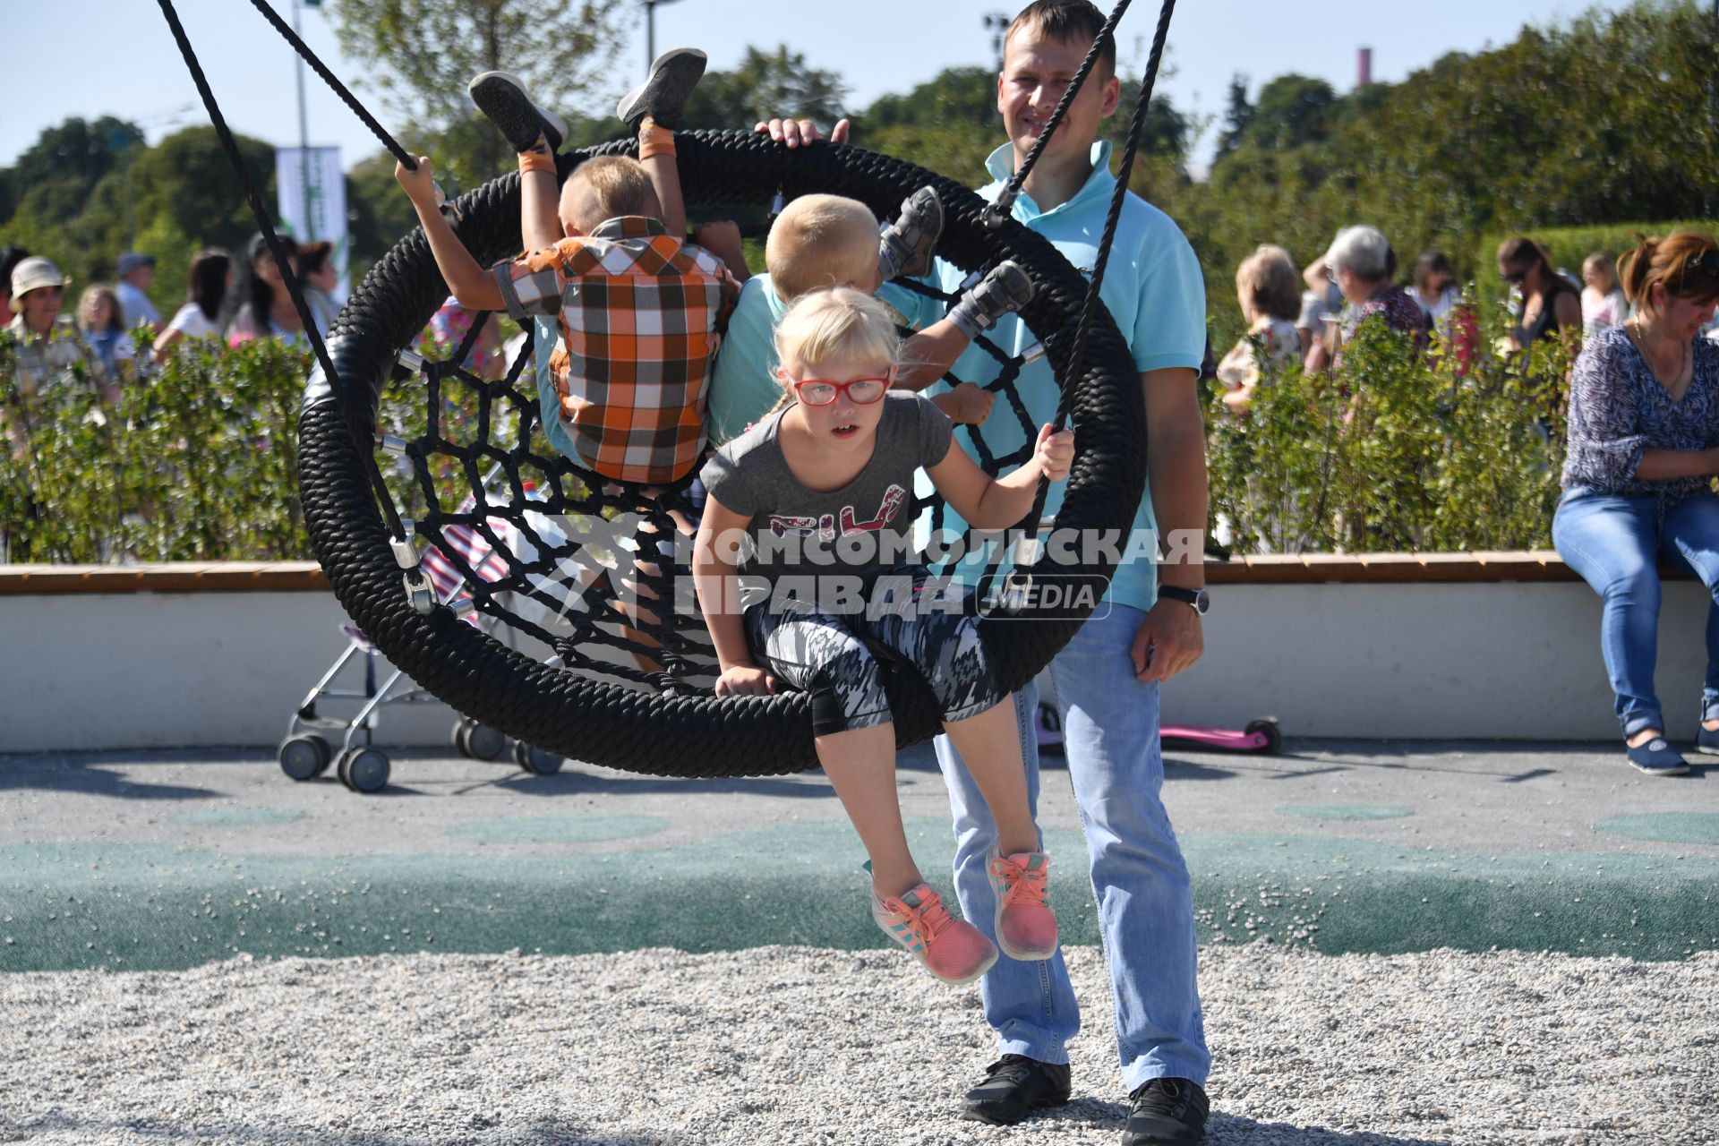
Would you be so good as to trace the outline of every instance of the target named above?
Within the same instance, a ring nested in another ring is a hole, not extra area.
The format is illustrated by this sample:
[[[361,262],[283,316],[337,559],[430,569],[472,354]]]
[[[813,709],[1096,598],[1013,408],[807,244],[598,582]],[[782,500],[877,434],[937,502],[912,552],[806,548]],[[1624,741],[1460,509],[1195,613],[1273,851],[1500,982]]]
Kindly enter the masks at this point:
[[[291,21],[292,0],[272,0]],[[328,0],[339,3],[339,0]],[[657,9],[658,50],[694,45],[713,69],[732,67],[746,45],[787,43],[813,67],[847,82],[854,108],[906,91],[940,69],[992,60],[983,17],[1021,0],[866,0],[863,19],[847,0],[664,0]],[[1110,0],[1098,0],[1109,9]],[[119,115],[143,125],[151,143],[179,125],[208,122],[191,76],[150,0],[84,3],[9,3],[5,64],[9,98],[0,101],[0,165],[10,165],[45,129],[72,115]],[[203,58],[215,96],[237,131],[277,144],[297,144],[292,48],[248,0],[177,0],[175,7]],[[643,10],[643,5],[638,5]],[[1337,91],[1355,84],[1356,48],[1373,50],[1373,79],[1401,81],[1446,52],[1477,52],[1508,43],[1525,22],[1568,19],[1588,0],[1437,0],[1379,3],[1324,0],[1181,0],[1169,36],[1174,74],[1160,91],[1178,108],[1215,119],[1229,77],[1260,82],[1284,72],[1320,76]],[[1600,0],[1619,9],[1624,0]],[[1153,0],[1135,0],[1123,17],[1123,62],[1145,64],[1157,21]],[[304,40],[352,86],[366,107],[406,146],[413,125],[394,122],[358,65],[340,57],[327,10],[303,12]],[[1138,46],[1136,46],[1138,41]],[[622,57],[612,100],[645,69],[643,17]],[[339,144],[347,165],[378,149],[363,124],[306,69],[309,141]],[[187,107],[191,105],[191,107]],[[602,105],[596,105],[602,107]],[[739,127],[739,124],[736,124]],[[1212,143],[1205,132],[1202,151]],[[858,143],[865,143],[858,139]]]

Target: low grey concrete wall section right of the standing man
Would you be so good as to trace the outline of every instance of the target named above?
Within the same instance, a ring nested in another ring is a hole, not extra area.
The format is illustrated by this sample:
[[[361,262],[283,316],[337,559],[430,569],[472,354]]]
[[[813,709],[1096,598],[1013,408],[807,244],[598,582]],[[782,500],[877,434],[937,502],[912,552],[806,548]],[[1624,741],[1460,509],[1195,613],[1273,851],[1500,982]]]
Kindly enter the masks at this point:
[[[1165,723],[1286,735],[1618,737],[1600,603],[1578,582],[1231,584],[1212,589],[1205,656],[1164,687]],[[1707,598],[1666,584],[1657,687],[1693,741]]]

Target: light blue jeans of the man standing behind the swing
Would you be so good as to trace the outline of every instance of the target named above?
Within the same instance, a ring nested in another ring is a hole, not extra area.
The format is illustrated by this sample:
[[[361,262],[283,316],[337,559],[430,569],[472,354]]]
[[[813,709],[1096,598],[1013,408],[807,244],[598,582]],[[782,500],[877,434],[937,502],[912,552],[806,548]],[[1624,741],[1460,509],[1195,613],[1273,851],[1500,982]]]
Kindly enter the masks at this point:
[[[1123,1082],[1135,1089],[1148,1079],[1171,1077],[1205,1086],[1212,1055],[1205,1048],[1195,984],[1193,888],[1160,797],[1159,686],[1136,680],[1129,660],[1143,619],[1138,608],[1117,605],[1109,617],[1088,620],[1050,661],[1050,679],[1057,686],[1069,780],[1110,962]],[[1014,704],[1026,794],[1037,816],[1038,689],[1016,692]],[[997,825],[949,737],[937,737],[937,763],[956,821],[961,914],[988,935],[995,900],[985,863]],[[1080,1005],[1061,950],[1045,962],[999,955],[980,997],[1002,1053],[1069,1060],[1067,1039],[1080,1031]]]

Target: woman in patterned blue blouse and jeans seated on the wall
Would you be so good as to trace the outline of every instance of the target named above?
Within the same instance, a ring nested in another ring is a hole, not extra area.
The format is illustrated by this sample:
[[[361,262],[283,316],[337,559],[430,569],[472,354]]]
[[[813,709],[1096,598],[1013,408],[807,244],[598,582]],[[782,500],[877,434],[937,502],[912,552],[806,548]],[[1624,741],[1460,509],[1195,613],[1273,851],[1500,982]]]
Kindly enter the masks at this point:
[[[1630,763],[1688,771],[1654,694],[1659,560],[1719,600],[1719,345],[1698,338],[1719,301],[1719,244],[1643,239],[1618,263],[1635,318],[1587,344],[1569,383],[1569,454],[1552,543],[1604,598],[1600,649]],[[1697,751],[1719,754],[1719,605],[1707,608]]]

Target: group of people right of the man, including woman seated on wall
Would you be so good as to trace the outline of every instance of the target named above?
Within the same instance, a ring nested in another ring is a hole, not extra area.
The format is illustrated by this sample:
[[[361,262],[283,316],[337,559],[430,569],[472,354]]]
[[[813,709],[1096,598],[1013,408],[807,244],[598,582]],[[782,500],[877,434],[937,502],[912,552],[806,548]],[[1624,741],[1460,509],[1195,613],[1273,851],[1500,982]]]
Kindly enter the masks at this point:
[[[1702,582],[1709,667],[1695,749],[1719,756],[1719,244],[1679,232],[1642,237],[1614,258],[1595,251],[1580,282],[1528,237],[1502,242],[1511,326],[1494,347],[1518,354],[1563,338],[1580,352],[1566,380],[1568,448],[1552,543],[1602,598],[1600,651],[1616,696],[1626,759],[1647,775],[1683,775],[1654,691],[1661,564]],[[1236,270],[1246,335],[1215,368],[1222,405],[1248,409],[1260,387],[1296,364],[1327,369],[1375,321],[1425,349],[1439,338],[1466,371],[1477,320],[1449,259],[1427,251],[1396,283],[1398,259],[1373,227],[1348,227],[1301,271],[1262,246]],[[1220,517],[1219,534],[1227,522]]]

